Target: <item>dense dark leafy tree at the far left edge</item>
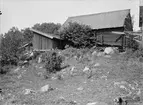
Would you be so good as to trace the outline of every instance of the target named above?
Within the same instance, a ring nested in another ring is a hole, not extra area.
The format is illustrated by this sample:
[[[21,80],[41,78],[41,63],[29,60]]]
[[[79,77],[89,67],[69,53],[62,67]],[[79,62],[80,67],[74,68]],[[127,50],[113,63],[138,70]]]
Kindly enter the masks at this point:
[[[11,28],[1,40],[1,66],[17,65],[19,54],[21,53],[19,47],[23,43],[22,33],[15,27]]]

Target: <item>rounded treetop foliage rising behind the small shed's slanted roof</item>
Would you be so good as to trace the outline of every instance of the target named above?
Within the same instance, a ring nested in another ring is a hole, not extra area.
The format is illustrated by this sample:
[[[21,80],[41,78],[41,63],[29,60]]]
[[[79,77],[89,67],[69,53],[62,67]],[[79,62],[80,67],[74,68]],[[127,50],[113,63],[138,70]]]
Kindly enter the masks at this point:
[[[39,23],[37,23],[32,28],[42,31],[44,33],[56,34],[56,33],[58,33],[58,30],[60,27],[61,27],[61,24],[55,24],[55,23],[39,24]]]

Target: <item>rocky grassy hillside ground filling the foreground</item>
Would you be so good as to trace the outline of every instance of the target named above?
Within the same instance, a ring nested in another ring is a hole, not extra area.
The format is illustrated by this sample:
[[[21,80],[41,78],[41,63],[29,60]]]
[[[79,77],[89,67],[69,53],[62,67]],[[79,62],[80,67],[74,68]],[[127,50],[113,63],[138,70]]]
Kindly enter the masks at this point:
[[[116,97],[127,95],[141,99],[128,105],[143,105],[143,63],[138,60],[125,61],[121,54],[91,55],[81,60],[67,58],[62,66],[66,65],[69,66],[50,79],[44,78],[42,63],[31,62],[28,67],[13,68],[1,77],[0,87],[4,92],[0,105],[87,105],[92,102],[114,105]],[[52,89],[40,92],[47,84]],[[26,94],[26,89],[32,92]]]

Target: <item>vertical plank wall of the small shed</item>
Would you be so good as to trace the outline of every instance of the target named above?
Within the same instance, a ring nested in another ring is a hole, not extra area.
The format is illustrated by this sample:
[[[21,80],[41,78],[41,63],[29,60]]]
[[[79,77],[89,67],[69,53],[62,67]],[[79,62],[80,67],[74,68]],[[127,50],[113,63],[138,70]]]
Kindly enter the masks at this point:
[[[34,33],[34,38],[33,38],[33,49],[34,50],[52,49],[54,48],[53,43],[54,43],[54,40]]]

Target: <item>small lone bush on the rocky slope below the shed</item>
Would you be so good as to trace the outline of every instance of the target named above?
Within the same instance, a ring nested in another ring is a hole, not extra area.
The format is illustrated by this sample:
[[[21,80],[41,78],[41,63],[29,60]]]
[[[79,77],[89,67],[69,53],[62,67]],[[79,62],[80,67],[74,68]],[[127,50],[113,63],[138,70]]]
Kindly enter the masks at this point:
[[[48,74],[61,70],[62,56],[58,55],[55,51],[49,51],[44,56],[45,68]]]

